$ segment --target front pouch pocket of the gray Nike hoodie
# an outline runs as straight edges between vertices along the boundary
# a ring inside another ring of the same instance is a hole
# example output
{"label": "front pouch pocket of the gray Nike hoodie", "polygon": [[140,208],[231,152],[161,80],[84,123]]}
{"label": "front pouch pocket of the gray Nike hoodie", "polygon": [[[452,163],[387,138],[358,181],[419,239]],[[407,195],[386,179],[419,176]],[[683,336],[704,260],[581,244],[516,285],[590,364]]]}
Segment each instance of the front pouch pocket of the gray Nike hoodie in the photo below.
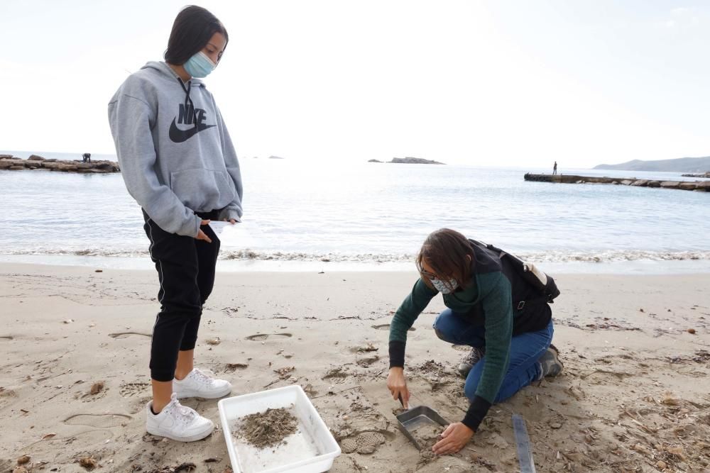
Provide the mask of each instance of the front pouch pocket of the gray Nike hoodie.
{"label": "front pouch pocket of the gray Nike hoodie", "polygon": [[170,173],[170,189],[187,208],[211,211],[222,208],[236,195],[231,177],[224,171],[186,169]]}

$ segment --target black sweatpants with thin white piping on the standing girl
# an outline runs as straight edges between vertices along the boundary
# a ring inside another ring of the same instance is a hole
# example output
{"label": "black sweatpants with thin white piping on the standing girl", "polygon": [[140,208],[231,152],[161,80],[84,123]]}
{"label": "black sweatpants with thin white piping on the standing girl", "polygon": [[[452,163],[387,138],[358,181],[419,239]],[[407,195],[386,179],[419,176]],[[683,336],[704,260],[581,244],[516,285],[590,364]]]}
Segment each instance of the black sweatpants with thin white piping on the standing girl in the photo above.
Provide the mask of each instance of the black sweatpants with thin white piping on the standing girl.
{"label": "black sweatpants with thin white piping on the standing girl", "polygon": [[[197,215],[203,220],[212,220],[217,218],[217,211]],[[143,220],[160,281],[160,312],[153,325],[151,345],[151,378],[172,381],[178,352],[195,348],[202,305],[214,286],[219,239],[208,225],[200,228],[212,243],[168,233],[153,222],[146,211],[143,211]]]}

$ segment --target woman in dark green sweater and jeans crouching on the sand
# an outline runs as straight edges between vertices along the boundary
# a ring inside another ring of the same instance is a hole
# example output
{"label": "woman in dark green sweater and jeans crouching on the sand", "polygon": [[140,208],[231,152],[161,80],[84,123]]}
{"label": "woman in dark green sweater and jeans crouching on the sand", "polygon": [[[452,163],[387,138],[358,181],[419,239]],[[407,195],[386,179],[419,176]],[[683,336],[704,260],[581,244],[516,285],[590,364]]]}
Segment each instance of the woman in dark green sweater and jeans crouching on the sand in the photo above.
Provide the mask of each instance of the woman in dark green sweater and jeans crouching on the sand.
{"label": "woman in dark green sweater and jeans crouching on the sand", "polygon": [[432,447],[443,455],[458,452],[471,440],[492,404],[562,371],[557,349],[550,345],[554,330],[548,305],[559,291],[552,278],[534,267],[530,270],[512,255],[447,228],[427,237],[417,269],[420,278],[391,323],[387,386],[393,399],[408,407],[407,330],[440,292],[447,309],[434,323],[436,335],[471,347],[459,365],[471,404],[466,416],[449,425]]}

